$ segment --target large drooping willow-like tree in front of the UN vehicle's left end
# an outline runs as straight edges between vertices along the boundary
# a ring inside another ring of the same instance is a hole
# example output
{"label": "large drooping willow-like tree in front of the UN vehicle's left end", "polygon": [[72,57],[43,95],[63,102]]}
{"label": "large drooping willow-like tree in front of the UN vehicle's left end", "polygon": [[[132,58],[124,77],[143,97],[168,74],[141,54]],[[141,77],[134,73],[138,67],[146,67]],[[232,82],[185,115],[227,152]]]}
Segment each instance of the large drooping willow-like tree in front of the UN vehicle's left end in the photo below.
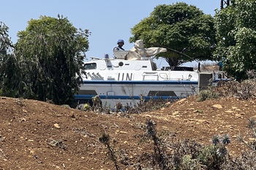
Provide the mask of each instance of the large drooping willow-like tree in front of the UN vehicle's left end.
{"label": "large drooping willow-like tree in front of the UN vehicle's left end", "polygon": [[62,16],[41,16],[28,23],[25,31],[18,32],[15,44],[17,57],[12,63],[18,72],[6,73],[8,77],[19,76],[20,81],[18,85],[9,82],[10,87],[24,98],[72,104],[82,80],[89,31],[78,30]]}

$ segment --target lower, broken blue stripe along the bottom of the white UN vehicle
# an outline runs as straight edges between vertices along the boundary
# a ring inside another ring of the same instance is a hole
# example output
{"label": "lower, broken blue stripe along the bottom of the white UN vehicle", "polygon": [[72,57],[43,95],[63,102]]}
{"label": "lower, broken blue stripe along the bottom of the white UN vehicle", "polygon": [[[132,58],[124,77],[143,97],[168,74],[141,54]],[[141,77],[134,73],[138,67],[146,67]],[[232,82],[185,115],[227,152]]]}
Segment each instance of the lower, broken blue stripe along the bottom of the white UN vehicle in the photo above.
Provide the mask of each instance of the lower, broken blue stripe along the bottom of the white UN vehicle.
{"label": "lower, broken blue stripe along the bottom of the white UN vehicle", "polygon": [[[92,97],[94,97],[95,95],[75,95],[75,99],[77,100],[91,100]],[[135,100],[139,100],[140,96],[106,96],[106,95],[99,95],[99,98],[101,99],[135,99]],[[177,96],[144,96],[144,98],[146,100],[149,99],[178,99],[178,98],[184,98],[184,97],[177,97]]]}

